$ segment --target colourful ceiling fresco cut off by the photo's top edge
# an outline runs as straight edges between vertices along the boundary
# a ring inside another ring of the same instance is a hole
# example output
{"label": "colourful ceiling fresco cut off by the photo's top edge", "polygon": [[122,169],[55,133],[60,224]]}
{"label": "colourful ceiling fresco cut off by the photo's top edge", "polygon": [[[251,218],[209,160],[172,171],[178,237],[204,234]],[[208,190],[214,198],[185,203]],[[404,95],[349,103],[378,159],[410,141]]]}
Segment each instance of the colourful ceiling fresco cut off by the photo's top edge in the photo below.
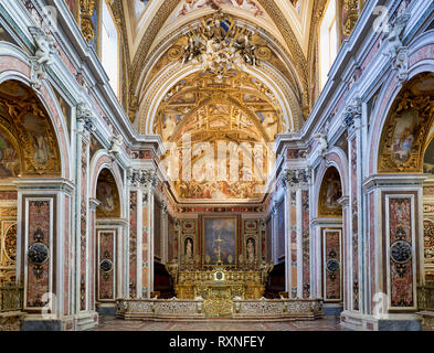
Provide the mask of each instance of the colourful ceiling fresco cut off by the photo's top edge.
{"label": "colourful ceiling fresco cut off by the photo's top edge", "polygon": [[214,10],[222,10],[224,6],[247,10],[255,17],[264,14],[257,2],[252,0],[183,0],[173,19],[186,15],[197,9],[210,7]]}

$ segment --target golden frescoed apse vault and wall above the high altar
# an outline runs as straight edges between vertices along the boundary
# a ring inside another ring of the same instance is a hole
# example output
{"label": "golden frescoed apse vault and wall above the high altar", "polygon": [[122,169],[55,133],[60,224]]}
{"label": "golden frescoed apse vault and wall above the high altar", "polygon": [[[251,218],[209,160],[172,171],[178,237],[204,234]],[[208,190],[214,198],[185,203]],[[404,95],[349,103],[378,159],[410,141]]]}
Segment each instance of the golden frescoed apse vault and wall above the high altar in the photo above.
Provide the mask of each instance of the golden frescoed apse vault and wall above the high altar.
{"label": "golden frescoed apse vault and wall above the high altar", "polygon": [[[284,129],[275,97],[246,74],[224,82],[192,74],[167,93],[154,125],[165,142],[174,143],[165,161],[178,197],[207,201],[260,200],[272,169],[267,142]],[[186,137],[190,146],[182,145]],[[180,158],[190,154],[190,162]]]}

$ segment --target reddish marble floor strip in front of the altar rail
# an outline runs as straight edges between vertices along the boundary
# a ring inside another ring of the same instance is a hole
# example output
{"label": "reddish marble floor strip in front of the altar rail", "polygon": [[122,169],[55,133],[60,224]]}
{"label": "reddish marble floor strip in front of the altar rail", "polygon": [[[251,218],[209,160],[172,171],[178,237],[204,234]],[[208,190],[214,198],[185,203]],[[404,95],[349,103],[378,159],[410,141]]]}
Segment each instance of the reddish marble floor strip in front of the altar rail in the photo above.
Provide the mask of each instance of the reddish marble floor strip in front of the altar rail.
{"label": "reddish marble floor strip in front of the altar rail", "polygon": [[348,331],[339,318],[326,317],[316,321],[290,322],[152,322],[125,321],[99,317],[96,331]]}

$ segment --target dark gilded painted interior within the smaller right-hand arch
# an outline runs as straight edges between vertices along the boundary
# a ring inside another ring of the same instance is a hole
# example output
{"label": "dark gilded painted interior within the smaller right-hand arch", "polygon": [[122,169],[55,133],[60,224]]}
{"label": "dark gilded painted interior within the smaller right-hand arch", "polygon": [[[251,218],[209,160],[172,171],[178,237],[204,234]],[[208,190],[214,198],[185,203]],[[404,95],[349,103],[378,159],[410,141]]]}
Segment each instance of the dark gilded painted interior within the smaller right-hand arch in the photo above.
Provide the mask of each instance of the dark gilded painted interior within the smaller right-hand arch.
{"label": "dark gilded painted interior within the smaller right-hand arch", "polygon": [[342,197],[342,186],[339,172],[331,167],[324,175],[321,189],[319,191],[319,216],[341,216],[342,206],[338,200]]}

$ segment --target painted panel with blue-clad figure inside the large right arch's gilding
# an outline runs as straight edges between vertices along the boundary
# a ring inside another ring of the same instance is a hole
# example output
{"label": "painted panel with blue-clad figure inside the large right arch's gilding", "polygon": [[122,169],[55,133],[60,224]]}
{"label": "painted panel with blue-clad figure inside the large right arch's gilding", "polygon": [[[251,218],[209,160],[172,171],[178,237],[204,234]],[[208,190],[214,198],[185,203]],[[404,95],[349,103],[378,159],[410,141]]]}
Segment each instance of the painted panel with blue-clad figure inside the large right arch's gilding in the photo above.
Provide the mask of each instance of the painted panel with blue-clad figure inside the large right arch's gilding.
{"label": "painted panel with blue-clad figure inside the large right arch's gilding", "polygon": [[396,125],[393,131],[392,156],[398,163],[405,163],[414,145],[414,132],[417,126],[417,111],[406,111],[395,118]]}

